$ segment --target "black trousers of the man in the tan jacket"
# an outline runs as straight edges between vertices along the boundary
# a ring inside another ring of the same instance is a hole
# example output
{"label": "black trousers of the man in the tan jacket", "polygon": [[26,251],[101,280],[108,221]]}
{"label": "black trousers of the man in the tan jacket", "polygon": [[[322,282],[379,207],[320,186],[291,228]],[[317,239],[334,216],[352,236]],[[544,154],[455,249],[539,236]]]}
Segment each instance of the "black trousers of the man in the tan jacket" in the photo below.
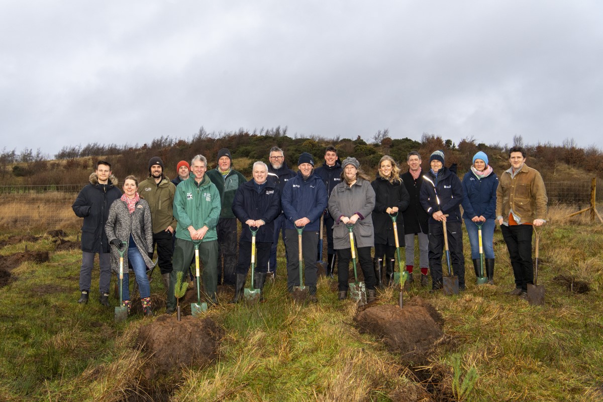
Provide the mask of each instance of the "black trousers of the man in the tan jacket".
{"label": "black trousers of the man in the tan jacket", "polygon": [[532,266],[532,225],[500,225],[502,237],[507,243],[515,287],[528,291],[528,283],[534,284]]}

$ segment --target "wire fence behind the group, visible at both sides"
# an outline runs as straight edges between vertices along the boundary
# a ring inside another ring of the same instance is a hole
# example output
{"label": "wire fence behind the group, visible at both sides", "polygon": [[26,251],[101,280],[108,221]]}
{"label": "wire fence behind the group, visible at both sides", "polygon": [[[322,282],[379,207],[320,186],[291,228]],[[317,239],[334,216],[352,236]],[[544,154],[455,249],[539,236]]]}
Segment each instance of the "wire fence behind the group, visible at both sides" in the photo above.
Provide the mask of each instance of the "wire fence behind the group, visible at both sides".
{"label": "wire fence behind the group, visible at both sides", "polygon": [[[75,216],[71,205],[85,185],[0,186],[0,228],[27,231],[80,228],[82,219]],[[549,205],[569,205],[576,211],[591,205],[592,180],[546,181],[545,186]],[[595,191],[599,205],[601,198],[602,192]]]}

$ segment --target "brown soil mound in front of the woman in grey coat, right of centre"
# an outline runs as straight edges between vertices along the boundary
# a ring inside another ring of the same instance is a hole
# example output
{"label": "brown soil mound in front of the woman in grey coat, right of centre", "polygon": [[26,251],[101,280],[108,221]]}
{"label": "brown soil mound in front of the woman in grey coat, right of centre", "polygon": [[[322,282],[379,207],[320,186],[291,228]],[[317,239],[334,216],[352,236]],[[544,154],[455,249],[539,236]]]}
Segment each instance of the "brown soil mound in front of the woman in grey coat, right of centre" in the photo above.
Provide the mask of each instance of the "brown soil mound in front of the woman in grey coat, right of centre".
{"label": "brown soil mound in front of the woman in grey coat, right of centre", "polygon": [[368,307],[354,321],[361,332],[382,338],[388,350],[402,353],[409,361],[424,356],[444,334],[440,313],[418,296],[403,309],[391,304]]}

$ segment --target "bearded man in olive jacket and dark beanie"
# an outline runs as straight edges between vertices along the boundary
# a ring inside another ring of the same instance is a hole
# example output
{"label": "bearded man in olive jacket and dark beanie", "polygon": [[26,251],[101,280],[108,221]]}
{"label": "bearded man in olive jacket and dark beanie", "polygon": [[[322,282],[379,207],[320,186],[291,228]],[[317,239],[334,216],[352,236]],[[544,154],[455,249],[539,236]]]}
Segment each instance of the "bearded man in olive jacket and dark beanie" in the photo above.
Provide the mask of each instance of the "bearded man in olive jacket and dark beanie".
{"label": "bearded man in olive jacket and dark beanie", "polygon": [[140,198],[144,198],[151,209],[153,220],[153,242],[151,243],[150,258],[157,245],[157,263],[161,270],[165,291],[169,287],[169,274],[172,272],[173,233],[176,230],[176,220],[172,206],[176,186],[163,174],[163,161],[154,156],[149,160],[149,177],[140,183]]}

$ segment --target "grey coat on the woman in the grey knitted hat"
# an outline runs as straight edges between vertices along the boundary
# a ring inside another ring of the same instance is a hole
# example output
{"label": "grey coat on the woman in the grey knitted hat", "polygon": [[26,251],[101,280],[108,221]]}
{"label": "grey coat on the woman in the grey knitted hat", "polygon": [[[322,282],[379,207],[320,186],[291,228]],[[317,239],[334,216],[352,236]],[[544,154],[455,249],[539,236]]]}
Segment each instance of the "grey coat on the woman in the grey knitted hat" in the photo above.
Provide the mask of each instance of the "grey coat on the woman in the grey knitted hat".
{"label": "grey coat on the woman in the grey knitted hat", "polygon": [[357,213],[360,219],[354,225],[356,247],[373,247],[373,217],[371,212],[375,207],[375,192],[367,180],[358,181],[348,186],[345,181],[333,188],[329,198],[329,213],[335,219],[333,225],[333,248],[342,250],[350,248],[350,234],[346,224],[341,222],[341,216],[350,217]]}

